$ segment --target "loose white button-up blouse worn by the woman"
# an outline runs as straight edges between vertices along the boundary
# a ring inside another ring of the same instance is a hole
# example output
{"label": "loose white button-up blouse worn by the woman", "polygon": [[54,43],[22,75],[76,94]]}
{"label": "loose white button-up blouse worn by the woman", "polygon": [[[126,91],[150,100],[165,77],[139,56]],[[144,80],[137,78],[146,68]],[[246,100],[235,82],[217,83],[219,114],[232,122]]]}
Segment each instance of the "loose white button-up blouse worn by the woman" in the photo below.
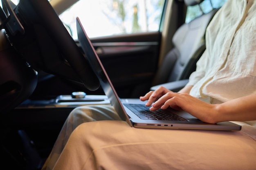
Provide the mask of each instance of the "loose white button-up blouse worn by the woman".
{"label": "loose white button-up blouse worn by the woman", "polygon": [[[187,85],[192,96],[212,104],[256,93],[256,0],[228,0],[216,13]],[[249,125],[243,129],[256,139],[256,121],[236,123]]]}

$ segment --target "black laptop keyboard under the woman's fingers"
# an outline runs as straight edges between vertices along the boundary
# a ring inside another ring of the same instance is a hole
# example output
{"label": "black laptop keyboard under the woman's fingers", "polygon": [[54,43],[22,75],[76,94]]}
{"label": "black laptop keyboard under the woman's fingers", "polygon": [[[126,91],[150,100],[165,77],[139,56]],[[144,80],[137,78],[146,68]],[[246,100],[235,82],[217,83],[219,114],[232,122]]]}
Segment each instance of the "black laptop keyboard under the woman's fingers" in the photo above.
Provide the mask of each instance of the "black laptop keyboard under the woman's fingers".
{"label": "black laptop keyboard under the woman's fingers", "polygon": [[158,109],[157,111],[150,111],[148,107],[141,104],[124,104],[124,105],[141,119],[188,121],[166,110]]}

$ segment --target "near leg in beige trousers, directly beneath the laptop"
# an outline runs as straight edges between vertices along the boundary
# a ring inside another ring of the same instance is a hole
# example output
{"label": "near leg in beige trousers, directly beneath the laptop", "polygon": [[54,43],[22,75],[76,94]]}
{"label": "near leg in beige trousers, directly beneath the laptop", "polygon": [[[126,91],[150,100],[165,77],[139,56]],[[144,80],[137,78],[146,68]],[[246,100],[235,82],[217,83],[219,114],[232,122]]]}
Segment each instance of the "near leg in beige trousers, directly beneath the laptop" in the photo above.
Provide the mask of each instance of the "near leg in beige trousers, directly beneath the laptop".
{"label": "near leg in beige trousers, directly beneath the laptop", "polygon": [[74,130],[56,168],[65,162],[73,169],[253,169],[255,160],[256,141],[240,131],[139,129],[97,121]]}

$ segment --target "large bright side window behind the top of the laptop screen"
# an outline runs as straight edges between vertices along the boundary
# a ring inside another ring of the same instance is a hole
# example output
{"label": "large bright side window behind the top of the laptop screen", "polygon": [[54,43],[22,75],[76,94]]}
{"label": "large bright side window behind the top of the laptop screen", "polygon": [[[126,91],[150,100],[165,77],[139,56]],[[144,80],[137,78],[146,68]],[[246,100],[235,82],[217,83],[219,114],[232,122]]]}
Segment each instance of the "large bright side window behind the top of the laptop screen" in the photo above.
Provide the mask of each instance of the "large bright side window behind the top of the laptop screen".
{"label": "large bright side window behind the top of the laptop screen", "polygon": [[76,17],[89,37],[158,31],[164,0],[79,0],[59,15],[77,39]]}

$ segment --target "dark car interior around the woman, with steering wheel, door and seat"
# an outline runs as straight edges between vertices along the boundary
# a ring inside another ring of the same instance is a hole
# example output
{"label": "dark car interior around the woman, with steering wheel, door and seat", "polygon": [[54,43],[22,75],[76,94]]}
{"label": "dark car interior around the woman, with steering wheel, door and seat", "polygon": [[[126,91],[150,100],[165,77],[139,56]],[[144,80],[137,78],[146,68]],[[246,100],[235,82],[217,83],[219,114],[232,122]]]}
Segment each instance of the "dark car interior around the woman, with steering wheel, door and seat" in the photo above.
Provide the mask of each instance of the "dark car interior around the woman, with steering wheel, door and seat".
{"label": "dark car interior around the woman, with steering wheel, door and seat", "polygon": [[[7,169],[41,169],[75,107],[109,104],[79,41],[59,18],[77,1],[2,0],[0,153]],[[90,38],[120,98],[186,85],[219,9],[211,4],[204,13],[204,1],[217,0],[165,0],[158,31]],[[195,6],[201,15],[185,22]]]}

